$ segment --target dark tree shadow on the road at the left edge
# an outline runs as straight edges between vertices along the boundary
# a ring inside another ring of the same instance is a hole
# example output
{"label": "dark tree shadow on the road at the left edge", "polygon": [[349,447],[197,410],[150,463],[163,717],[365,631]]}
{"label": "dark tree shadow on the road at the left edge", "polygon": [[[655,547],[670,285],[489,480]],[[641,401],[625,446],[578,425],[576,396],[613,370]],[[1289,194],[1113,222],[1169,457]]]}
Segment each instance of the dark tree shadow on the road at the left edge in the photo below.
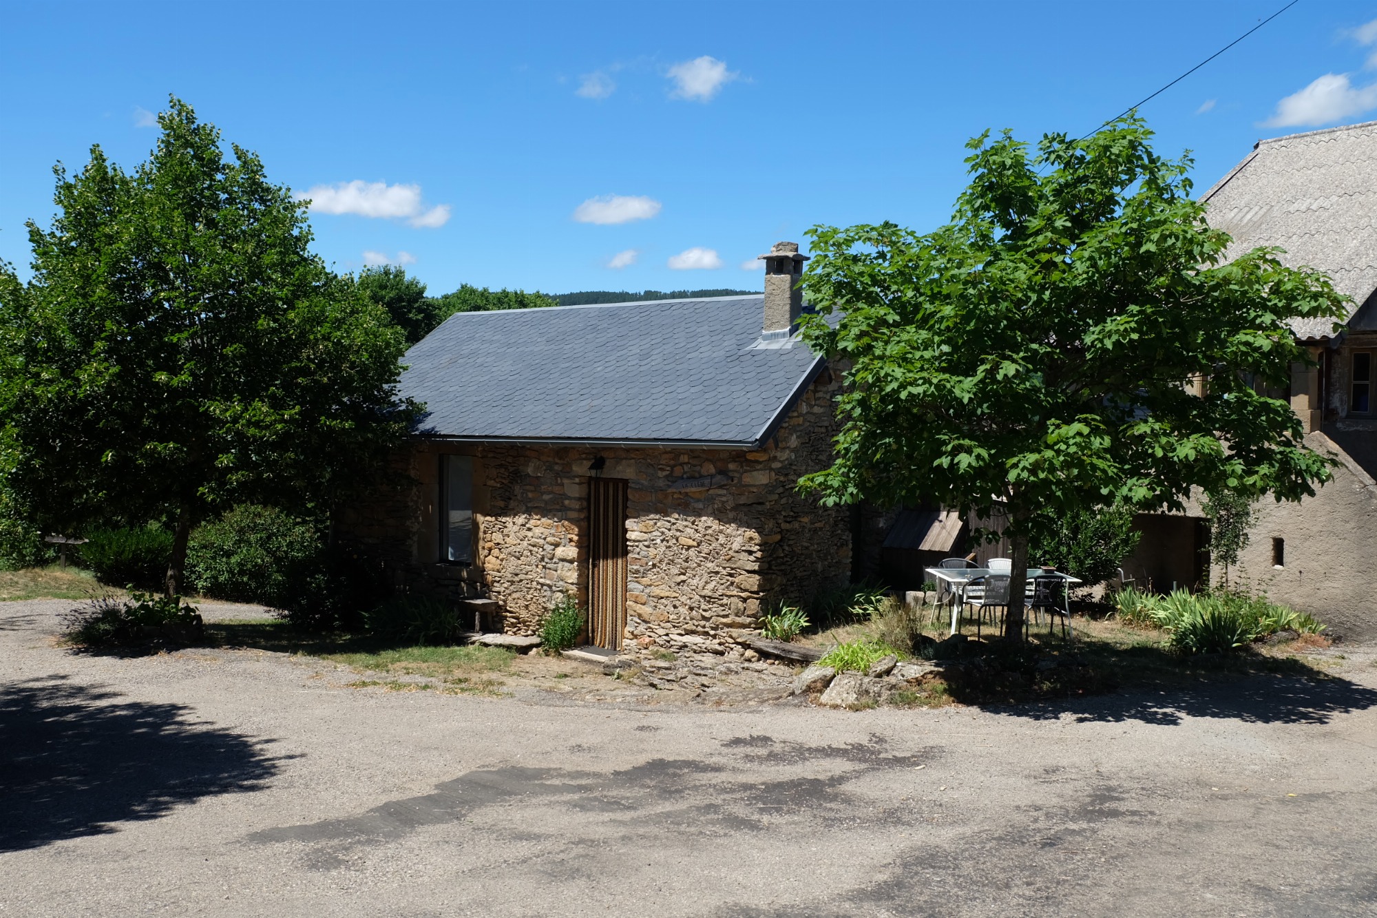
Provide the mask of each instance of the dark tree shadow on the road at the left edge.
{"label": "dark tree shadow on the road at the left edge", "polygon": [[264,740],[197,722],[185,704],[121,699],[65,677],[0,686],[0,852],[260,790],[280,768]]}

